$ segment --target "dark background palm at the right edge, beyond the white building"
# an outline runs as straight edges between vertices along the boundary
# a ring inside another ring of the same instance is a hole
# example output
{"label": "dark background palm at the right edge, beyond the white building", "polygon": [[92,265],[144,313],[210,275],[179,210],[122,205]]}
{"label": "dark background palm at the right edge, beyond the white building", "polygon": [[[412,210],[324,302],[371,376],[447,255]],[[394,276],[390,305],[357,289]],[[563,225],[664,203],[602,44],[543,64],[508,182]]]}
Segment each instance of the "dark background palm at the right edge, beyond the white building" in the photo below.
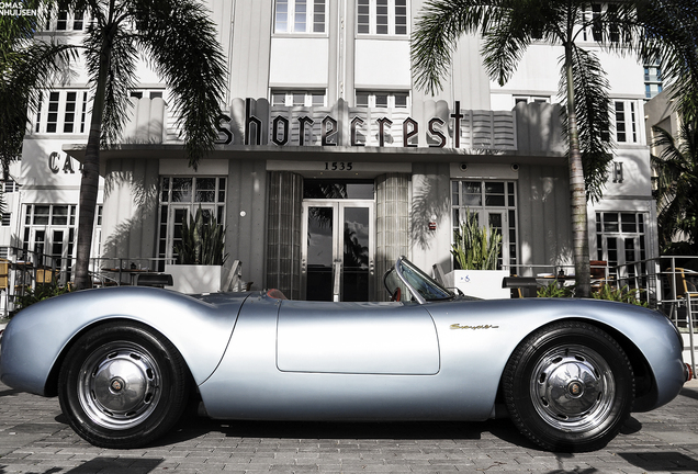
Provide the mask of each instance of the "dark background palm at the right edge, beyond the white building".
{"label": "dark background palm at the right edge, beyond the white building", "polygon": [[[652,156],[657,170],[657,223],[663,252],[696,253],[698,245],[698,121],[683,114],[678,136],[654,127],[653,145],[663,148]],[[680,238],[680,241],[675,241]],[[693,251],[691,251],[693,250]]]}

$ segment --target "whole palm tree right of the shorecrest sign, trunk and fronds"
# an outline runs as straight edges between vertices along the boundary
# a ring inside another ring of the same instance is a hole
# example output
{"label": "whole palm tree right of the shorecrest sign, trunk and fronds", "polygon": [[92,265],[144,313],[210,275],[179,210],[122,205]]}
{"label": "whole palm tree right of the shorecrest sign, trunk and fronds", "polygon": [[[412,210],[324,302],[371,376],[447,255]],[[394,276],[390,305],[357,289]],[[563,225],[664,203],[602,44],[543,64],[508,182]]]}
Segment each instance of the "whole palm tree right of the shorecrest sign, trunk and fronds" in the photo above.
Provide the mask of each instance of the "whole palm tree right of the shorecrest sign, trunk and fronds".
{"label": "whole palm tree right of the shorecrest sign, trunk and fronds", "polygon": [[[464,34],[482,36],[485,68],[499,84],[516,71],[533,41],[564,49],[560,95],[570,144],[576,286],[583,297],[590,293],[586,203],[600,199],[611,144],[605,137],[610,116],[608,83],[594,50],[582,48],[577,40],[592,32],[605,49],[675,58],[688,50],[687,40],[672,34],[673,43],[665,43],[662,34],[669,35],[668,25],[680,29],[686,18],[695,19],[696,5],[689,0],[664,8],[665,3],[672,2],[608,2],[605,12],[589,14],[588,1],[582,0],[430,0],[413,34],[415,81],[432,94],[441,89],[441,77],[448,74],[452,52]],[[679,50],[679,46],[686,49]]]}

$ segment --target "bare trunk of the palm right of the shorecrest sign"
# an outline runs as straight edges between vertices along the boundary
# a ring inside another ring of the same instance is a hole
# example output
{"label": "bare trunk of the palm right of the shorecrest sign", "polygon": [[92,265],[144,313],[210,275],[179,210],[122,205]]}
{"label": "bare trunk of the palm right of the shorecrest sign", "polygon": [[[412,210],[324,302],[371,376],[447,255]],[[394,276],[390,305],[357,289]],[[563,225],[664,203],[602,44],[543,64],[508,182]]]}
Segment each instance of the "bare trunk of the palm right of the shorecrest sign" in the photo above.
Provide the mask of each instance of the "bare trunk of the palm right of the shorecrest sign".
{"label": "bare trunk of the palm right of the shorecrest sign", "polygon": [[567,86],[567,133],[570,135],[570,189],[572,204],[572,242],[574,248],[574,272],[576,295],[589,297],[592,293],[589,268],[589,239],[586,215],[586,187],[584,167],[579,151],[579,132],[574,102],[574,78],[572,76],[572,47],[565,45],[565,74]]}

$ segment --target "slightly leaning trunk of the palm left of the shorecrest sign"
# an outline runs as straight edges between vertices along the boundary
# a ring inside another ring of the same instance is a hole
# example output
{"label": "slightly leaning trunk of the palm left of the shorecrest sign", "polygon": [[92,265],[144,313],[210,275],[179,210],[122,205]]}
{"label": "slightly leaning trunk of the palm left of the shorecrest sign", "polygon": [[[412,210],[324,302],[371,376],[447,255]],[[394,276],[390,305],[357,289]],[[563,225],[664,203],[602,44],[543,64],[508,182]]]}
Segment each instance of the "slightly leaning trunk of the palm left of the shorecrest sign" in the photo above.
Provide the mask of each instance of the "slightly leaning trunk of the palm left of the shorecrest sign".
{"label": "slightly leaning trunk of the palm left of the shorecrest sign", "polygon": [[90,252],[92,249],[92,234],[94,225],[94,212],[97,210],[97,195],[100,182],[100,142],[102,135],[102,115],[104,111],[104,91],[106,88],[106,74],[110,66],[109,47],[102,48],[100,69],[98,74],[94,100],[92,103],[92,119],[90,121],[90,134],[82,160],[82,179],[80,181],[79,221],[78,221],[78,247],[75,271],[75,286],[77,290],[92,287],[90,279]]}

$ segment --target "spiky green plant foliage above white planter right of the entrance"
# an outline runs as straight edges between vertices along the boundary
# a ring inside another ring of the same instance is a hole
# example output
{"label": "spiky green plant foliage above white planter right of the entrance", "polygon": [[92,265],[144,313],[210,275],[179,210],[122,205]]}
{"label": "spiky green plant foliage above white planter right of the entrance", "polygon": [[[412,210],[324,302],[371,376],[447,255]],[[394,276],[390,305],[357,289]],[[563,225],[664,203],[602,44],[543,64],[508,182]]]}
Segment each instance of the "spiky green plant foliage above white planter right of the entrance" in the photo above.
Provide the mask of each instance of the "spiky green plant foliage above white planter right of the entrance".
{"label": "spiky green plant foliage above white planter right of the entrance", "polygon": [[502,235],[492,226],[481,227],[477,214],[468,212],[453,234],[451,255],[461,270],[496,270]]}

